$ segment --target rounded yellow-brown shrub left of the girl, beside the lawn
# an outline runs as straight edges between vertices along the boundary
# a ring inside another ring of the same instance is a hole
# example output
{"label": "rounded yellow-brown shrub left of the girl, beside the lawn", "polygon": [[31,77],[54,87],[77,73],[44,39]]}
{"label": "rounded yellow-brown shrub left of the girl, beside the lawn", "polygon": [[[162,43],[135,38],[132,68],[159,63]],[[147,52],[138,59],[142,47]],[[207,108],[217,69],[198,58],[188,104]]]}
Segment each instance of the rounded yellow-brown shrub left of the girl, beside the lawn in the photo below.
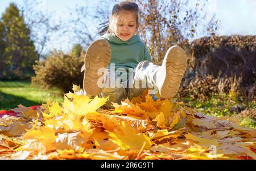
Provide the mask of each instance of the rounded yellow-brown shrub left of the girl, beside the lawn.
{"label": "rounded yellow-brown shrub left of the girl, beside the lawn", "polygon": [[36,76],[32,78],[32,84],[68,92],[73,83],[82,86],[83,72],[80,69],[83,64],[84,52],[80,57],[74,53],[53,52],[46,61],[37,61],[34,65]]}

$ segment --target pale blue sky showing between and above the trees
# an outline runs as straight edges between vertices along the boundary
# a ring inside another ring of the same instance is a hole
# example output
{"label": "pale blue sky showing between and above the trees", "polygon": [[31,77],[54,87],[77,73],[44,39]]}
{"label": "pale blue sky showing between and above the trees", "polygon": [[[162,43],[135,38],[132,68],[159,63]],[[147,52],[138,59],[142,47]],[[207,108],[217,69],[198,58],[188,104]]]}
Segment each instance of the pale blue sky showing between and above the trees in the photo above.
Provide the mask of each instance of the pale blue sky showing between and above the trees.
{"label": "pale blue sky showing between and above the trees", "polygon": [[[33,0],[28,0],[33,1]],[[55,12],[55,18],[69,18],[69,9],[76,5],[86,4],[94,6],[100,0],[42,0],[42,9]],[[113,1],[113,0],[110,0]],[[195,0],[190,0],[193,2]],[[0,0],[0,14],[10,2],[22,3],[22,0]],[[209,15],[216,13],[221,20],[222,28],[218,35],[256,35],[256,0],[209,0],[205,10]],[[204,36],[204,35],[201,35]],[[67,51],[72,45],[63,36],[61,39],[53,37],[48,49],[56,48]]]}

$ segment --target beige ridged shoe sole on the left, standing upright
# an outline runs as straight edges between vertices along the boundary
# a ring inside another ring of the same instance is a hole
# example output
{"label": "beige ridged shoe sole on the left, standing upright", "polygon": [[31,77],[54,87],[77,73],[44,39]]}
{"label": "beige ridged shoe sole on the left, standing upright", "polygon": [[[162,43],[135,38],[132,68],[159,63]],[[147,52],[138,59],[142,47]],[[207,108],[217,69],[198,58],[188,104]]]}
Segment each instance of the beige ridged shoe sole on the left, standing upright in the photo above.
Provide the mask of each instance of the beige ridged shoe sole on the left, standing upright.
{"label": "beige ridged shoe sole on the left, standing upright", "polygon": [[97,96],[102,88],[98,86],[98,79],[104,75],[98,75],[98,69],[106,69],[111,60],[111,48],[109,42],[105,39],[94,41],[87,49],[84,62],[84,90],[91,96]]}

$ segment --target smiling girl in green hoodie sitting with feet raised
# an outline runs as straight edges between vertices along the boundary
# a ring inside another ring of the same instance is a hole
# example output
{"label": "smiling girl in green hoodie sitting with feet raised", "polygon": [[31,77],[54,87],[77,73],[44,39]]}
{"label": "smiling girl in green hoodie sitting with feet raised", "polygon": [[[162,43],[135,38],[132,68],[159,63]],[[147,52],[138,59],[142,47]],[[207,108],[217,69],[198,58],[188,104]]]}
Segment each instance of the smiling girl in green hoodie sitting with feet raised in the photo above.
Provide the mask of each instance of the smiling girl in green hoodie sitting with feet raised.
{"label": "smiling girl in green hoodie sitting with feet raised", "polygon": [[86,95],[109,97],[105,106],[141,95],[146,88],[164,99],[177,94],[187,69],[187,57],[179,46],[168,49],[162,66],[151,62],[140,37],[139,8],[134,2],[115,4],[107,25],[86,51],[84,90]]}

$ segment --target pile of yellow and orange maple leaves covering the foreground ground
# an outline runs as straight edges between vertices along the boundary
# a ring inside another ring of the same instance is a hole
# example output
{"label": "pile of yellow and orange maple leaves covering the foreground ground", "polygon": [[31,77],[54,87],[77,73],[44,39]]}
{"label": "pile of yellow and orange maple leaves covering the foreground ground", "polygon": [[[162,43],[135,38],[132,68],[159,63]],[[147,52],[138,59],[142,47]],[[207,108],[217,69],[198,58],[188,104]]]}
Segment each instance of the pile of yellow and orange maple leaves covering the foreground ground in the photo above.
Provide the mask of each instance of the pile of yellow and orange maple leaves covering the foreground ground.
{"label": "pile of yellow and orange maple leaves covering the foreground ground", "polygon": [[144,92],[115,109],[106,98],[67,93],[63,105],[0,118],[0,159],[256,159],[256,130]]}

